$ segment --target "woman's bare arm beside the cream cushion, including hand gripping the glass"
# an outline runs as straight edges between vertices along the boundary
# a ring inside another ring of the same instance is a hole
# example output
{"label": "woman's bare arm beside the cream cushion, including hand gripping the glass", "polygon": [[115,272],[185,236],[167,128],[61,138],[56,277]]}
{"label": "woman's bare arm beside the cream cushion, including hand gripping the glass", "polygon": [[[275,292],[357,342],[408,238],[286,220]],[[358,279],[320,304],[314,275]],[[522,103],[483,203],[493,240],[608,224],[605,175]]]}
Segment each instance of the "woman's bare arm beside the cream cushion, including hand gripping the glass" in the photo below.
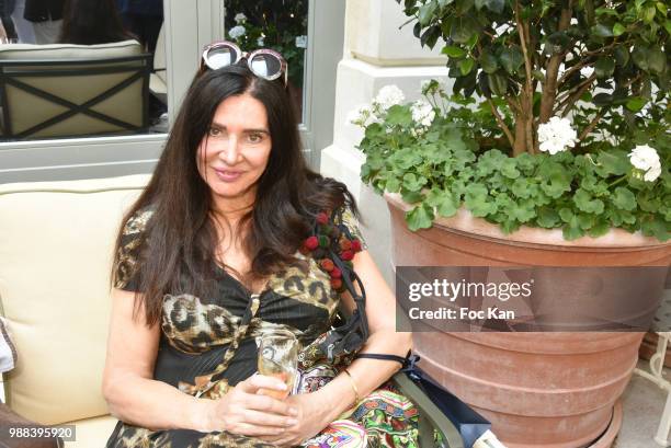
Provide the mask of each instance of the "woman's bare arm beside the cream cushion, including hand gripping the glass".
{"label": "woman's bare arm beside the cream cushion, including hand gripping the glass", "polygon": [[275,379],[254,376],[220,400],[196,399],[153,380],[160,326],[145,324],[144,309],[133,318],[135,294],[115,289],[103,394],[115,417],[151,429],[229,430],[244,435],[277,435],[295,422],[287,403],[257,395],[259,388],[282,390]]}

